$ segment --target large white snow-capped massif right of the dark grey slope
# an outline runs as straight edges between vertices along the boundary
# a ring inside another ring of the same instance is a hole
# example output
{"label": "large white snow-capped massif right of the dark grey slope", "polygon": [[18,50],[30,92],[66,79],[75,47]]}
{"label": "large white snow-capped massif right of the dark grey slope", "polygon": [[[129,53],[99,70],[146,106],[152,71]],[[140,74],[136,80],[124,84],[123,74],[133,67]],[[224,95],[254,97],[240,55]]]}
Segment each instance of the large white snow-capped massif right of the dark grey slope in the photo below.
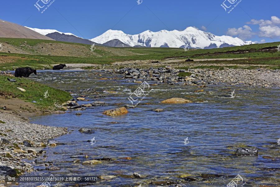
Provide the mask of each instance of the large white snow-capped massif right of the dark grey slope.
{"label": "large white snow-capped massif right of the dark grey slope", "polygon": [[183,48],[187,46],[194,49],[212,49],[229,46],[241,46],[254,44],[252,41],[243,41],[239,38],[231,36],[216,36],[209,32],[197,30],[188,27],[183,31],[178,30],[161,30],[152,32],[144,31],[138,35],[128,35],[120,30],[108,30],[104,34],[91,39],[91,41],[104,44],[111,40],[119,40],[128,46],[144,46],[144,47],[172,47]]}

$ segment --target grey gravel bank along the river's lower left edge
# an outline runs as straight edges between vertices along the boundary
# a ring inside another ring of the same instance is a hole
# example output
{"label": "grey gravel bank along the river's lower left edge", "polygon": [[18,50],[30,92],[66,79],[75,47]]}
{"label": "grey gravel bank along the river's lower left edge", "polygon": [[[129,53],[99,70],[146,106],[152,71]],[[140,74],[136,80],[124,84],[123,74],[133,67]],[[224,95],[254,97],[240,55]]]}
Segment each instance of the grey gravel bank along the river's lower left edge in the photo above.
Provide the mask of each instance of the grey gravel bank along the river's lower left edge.
{"label": "grey gravel bank along the river's lower left edge", "polygon": [[[50,127],[39,124],[30,124],[28,122],[15,121],[13,114],[0,113],[0,120],[5,122],[0,123],[0,166],[9,166],[12,169],[17,169],[18,174],[26,174],[35,171],[32,166],[34,163],[26,164],[21,161],[24,158],[37,158],[42,153],[24,151],[24,141],[29,142],[32,148],[46,147],[47,140],[67,134],[67,128]],[[4,139],[3,139],[4,138]],[[8,141],[8,142],[7,142]],[[43,149],[44,150],[44,149]],[[38,151],[38,150],[37,150]],[[38,151],[39,152],[39,151]],[[41,152],[41,151],[40,151]],[[7,176],[0,176],[0,181],[4,182]]]}

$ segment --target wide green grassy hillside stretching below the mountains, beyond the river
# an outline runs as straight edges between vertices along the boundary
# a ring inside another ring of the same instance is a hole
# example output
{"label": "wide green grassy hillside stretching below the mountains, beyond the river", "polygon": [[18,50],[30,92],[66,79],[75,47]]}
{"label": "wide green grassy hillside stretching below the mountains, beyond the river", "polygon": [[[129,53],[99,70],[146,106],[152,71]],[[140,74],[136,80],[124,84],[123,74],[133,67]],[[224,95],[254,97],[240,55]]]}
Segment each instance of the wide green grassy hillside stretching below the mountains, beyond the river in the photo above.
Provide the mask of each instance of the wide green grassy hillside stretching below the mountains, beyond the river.
{"label": "wide green grassy hillside stretching below the mountains, beyond the river", "polygon": [[[69,42],[34,40],[34,39],[11,39],[1,38],[0,42],[6,42],[13,46],[20,47],[23,43],[29,46],[38,44],[54,43],[57,45],[68,44],[69,48],[78,51],[74,46],[84,46],[86,51],[79,51],[77,57],[64,52],[63,50],[53,52],[51,55],[31,55],[0,52],[0,70],[7,70],[18,67],[29,66],[31,68],[52,68],[52,64],[57,63],[91,63],[110,64],[117,61],[147,60],[162,61],[174,58],[184,62],[186,58],[191,59],[213,59],[211,61],[201,61],[200,63],[235,63],[235,64],[268,64],[280,65],[280,52],[276,49],[280,42],[266,44],[250,44],[244,46],[225,47],[221,49],[195,49],[184,51],[182,48],[116,48],[100,47],[91,53],[90,45],[76,44]],[[26,41],[26,42],[25,42]],[[48,46],[45,45],[45,46]],[[73,47],[71,47],[73,46]],[[22,48],[24,46],[21,46]],[[51,48],[52,46],[48,46]],[[28,49],[26,49],[28,50]],[[55,56],[56,54],[60,54]],[[93,55],[94,54],[94,55]],[[62,56],[61,56],[62,55]],[[67,56],[69,55],[69,56]],[[238,60],[217,61],[215,58],[247,58]],[[251,58],[251,59],[249,59]],[[5,60],[6,59],[6,60]],[[5,67],[5,68],[4,68]]]}

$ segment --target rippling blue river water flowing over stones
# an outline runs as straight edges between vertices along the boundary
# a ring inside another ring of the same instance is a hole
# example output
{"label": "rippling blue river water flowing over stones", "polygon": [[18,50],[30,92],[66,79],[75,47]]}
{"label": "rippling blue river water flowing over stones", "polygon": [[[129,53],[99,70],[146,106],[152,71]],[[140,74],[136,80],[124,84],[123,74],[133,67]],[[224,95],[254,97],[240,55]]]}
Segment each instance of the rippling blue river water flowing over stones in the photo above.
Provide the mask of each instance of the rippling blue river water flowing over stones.
{"label": "rippling blue river water flowing over stones", "polygon": [[[99,80],[99,74],[108,80]],[[46,161],[53,161],[61,170],[38,171],[30,175],[99,177],[96,183],[89,186],[130,187],[142,184],[145,187],[156,186],[155,183],[150,184],[153,181],[174,181],[181,186],[216,187],[226,186],[239,174],[243,182],[239,181],[238,186],[244,182],[244,186],[279,186],[279,159],[272,161],[263,158],[280,157],[280,146],[277,145],[280,138],[279,89],[228,85],[206,88],[152,86],[154,82],[148,82],[151,86],[149,90],[153,90],[135,109],[128,109],[127,115],[103,115],[105,110],[131,105],[127,98],[140,84],[124,83],[121,77],[104,71],[40,71],[38,76],[31,77],[48,86],[69,91],[74,98],[83,95],[83,90],[93,88],[100,94],[87,95],[85,98],[89,101],[78,103],[88,104],[96,99],[108,105],[78,111],[82,113],[80,116],[75,115],[76,110],[68,110],[66,114],[32,117],[31,123],[67,127],[71,133],[55,138],[65,145],[45,148],[48,155]],[[205,92],[194,92],[200,89]],[[231,91],[225,89],[235,90],[236,97],[230,97]],[[212,94],[207,94],[209,91]],[[96,98],[96,95],[106,97]],[[159,103],[172,97],[189,99],[193,103]],[[151,111],[155,108],[165,111]],[[94,133],[78,132],[82,127],[93,128]],[[94,137],[96,143],[91,145],[88,140]],[[187,141],[185,145],[184,139],[187,137],[189,143]],[[236,149],[242,147],[258,148],[259,155],[234,156]],[[77,155],[81,162],[65,162],[77,159],[70,158],[73,155]],[[85,155],[89,158],[85,158]],[[115,161],[82,165],[83,161],[103,157]],[[132,160],[121,159],[124,157],[131,157]],[[39,164],[34,166],[45,167]],[[129,178],[128,175],[132,176],[134,172],[142,175],[142,178]],[[188,181],[186,178],[199,177],[203,173],[224,176],[198,178],[198,181]],[[36,185],[21,183],[19,186]]]}

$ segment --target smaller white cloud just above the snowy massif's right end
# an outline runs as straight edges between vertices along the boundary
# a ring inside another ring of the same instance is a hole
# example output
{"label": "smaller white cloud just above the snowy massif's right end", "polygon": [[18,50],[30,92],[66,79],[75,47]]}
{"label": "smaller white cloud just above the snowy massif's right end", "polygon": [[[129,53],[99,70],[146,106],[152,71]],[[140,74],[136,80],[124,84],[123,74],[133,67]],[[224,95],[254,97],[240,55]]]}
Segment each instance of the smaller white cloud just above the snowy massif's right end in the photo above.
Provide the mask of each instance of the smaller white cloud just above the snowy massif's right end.
{"label": "smaller white cloud just above the snowy massif's right end", "polygon": [[237,36],[238,38],[240,38],[241,40],[246,40],[249,38],[252,38],[254,35],[256,35],[256,33],[252,32],[252,29],[245,25],[243,26],[244,29],[242,29],[242,27],[236,29],[236,28],[228,28],[226,34],[230,35],[231,37],[233,36]]}

